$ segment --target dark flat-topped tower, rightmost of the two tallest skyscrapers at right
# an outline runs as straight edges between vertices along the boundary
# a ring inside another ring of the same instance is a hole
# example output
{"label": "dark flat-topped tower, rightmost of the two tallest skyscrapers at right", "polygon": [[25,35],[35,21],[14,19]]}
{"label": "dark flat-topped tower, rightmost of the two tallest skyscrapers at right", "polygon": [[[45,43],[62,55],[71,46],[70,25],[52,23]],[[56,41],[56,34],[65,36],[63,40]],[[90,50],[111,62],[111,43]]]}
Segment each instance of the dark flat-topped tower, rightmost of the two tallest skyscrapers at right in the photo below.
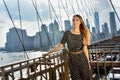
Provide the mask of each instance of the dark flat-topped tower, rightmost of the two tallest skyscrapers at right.
{"label": "dark flat-topped tower, rightmost of the two tallest skyscrapers at right", "polygon": [[116,21],[115,21],[114,12],[110,12],[110,29],[111,29],[111,35],[116,36],[117,35],[117,29],[116,29]]}

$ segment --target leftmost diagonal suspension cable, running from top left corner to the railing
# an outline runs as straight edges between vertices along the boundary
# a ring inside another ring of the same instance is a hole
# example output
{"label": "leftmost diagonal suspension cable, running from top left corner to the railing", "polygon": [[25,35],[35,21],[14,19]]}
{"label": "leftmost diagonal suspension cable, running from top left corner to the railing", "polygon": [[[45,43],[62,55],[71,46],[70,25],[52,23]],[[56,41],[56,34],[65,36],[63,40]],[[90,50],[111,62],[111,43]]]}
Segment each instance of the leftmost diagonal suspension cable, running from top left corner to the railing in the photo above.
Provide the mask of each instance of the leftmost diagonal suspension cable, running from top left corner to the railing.
{"label": "leftmost diagonal suspension cable, running from top left corner to the railing", "polygon": [[24,52],[25,52],[25,54],[26,54],[26,56],[27,56],[27,59],[29,59],[29,57],[28,57],[28,55],[27,55],[27,52],[26,52],[26,50],[25,50],[25,46],[24,46],[24,44],[23,44],[23,42],[22,42],[22,40],[21,40],[21,38],[20,38],[20,35],[19,35],[19,33],[18,33],[18,31],[17,31],[17,29],[16,29],[16,27],[15,27],[14,21],[13,21],[13,19],[12,19],[12,17],[11,17],[11,14],[10,14],[10,12],[9,12],[9,9],[8,9],[8,7],[7,7],[7,4],[6,4],[6,2],[5,2],[4,0],[3,0],[3,3],[4,3],[5,8],[6,8],[7,12],[8,12],[8,15],[9,15],[9,17],[10,17],[10,20],[11,20],[11,22],[12,22],[14,28],[15,28],[15,31],[16,31],[16,33],[17,33],[17,35],[18,35],[18,38],[19,38],[19,40],[20,40],[20,42],[21,42],[21,45],[22,45],[22,47],[23,47],[23,50],[24,50]]}

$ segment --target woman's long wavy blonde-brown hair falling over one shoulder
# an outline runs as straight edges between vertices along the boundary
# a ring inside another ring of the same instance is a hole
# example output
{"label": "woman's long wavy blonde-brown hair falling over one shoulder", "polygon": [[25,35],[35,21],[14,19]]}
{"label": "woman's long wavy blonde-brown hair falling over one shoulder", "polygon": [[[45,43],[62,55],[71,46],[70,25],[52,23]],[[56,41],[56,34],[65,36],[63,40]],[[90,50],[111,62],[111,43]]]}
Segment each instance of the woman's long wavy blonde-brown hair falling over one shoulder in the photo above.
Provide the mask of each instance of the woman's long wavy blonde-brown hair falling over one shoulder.
{"label": "woman's long wavy blonde-brown hair falling over one shoulder", "polygon": [[90,32],[89,32],[88,28],[86,27],[82,17],[79,14],[76,14],[73,17],[78,17],[80,19],[81,24],[79,26],[79,30],[80,30],[81,35],[83,36],[83,44],[86,46],[89,45],[91,35],[90,35]]}

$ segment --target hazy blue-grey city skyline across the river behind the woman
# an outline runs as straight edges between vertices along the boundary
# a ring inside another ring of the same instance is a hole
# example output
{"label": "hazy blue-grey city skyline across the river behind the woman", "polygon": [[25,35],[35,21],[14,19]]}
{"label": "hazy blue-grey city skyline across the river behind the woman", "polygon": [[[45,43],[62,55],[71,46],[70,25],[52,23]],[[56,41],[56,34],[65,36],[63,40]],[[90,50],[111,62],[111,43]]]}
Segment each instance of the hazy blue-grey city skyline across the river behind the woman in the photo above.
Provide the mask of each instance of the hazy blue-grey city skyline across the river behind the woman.
{"label": "hazy blue-grey city skyline across the river behind the woman", "polygon": [[[100,32],[99,25],[92,27],[91,31],[91,43],[94,43],[99,40],[108,39],[113,36],[120,36],[120,29],[116,29],[116,19],[114,12],[110,12],[110,31],[108,27],[108,23],[104,22],[102,24],[102,32]],[[99,13],[95,12],[94,18],[95,24],[99,23]],[[65,30],[68,31],[71,29],[71,24],[69,20],[64,21]],[[90,24],[88,19],[86,19],[86,25],[88,29],[90,29]],[[40,50],[40,51],[48,51],[49,49],[56,46],[60,43],[63,33],[63,30],[60,31],[58,22],[54,20],[54,23],[50,23],[49,26],[45,24],[41,25],[41,31],[36,32],[36,35],[30,37],[26,34],[26,30],[11,28],[7,33],[5,50],[8,52],[14,51],[23,51],[23,50]],[[110,33],[111,32],[111,33]],[[16,43],[16,44],[14,44]]]}

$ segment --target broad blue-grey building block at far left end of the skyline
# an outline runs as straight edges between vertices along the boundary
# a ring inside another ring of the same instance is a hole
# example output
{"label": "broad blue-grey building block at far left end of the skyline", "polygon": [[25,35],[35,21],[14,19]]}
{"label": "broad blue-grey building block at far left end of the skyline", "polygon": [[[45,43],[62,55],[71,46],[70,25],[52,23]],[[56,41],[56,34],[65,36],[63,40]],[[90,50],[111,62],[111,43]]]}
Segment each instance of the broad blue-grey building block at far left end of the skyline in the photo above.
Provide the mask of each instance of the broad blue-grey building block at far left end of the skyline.
{"label": "broad blue-grey building block at far left end of the skyline", "polygon": [[5,44],[6,50],[10,52],[33,50],[33,39],[29,37],[25,30],[18,28],[11,28],[6,35],[7,42]]}

